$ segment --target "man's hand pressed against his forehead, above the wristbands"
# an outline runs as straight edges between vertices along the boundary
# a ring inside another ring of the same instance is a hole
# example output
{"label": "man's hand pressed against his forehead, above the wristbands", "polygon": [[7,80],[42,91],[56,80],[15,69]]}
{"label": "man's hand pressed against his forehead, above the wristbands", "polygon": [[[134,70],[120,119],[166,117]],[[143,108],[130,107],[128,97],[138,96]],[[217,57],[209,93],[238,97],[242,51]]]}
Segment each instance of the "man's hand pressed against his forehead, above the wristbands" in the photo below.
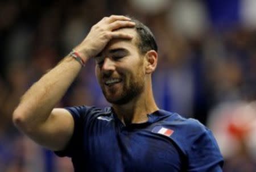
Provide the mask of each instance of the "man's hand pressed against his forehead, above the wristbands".
{"label": "man's hand pressed against his forehead, above the wristbands", "polygon": [[[82,43],[75,48],[75,51],[82,54],[85,58],[95,57],[102,52],[109,41],[113,39],[133,39],[134,22],[126,16],[112,15],[105,17],[96,23],[82,41]],[[123,28],[123,29],[121,29]],[[125,29],[126,28],[126,29]]]}

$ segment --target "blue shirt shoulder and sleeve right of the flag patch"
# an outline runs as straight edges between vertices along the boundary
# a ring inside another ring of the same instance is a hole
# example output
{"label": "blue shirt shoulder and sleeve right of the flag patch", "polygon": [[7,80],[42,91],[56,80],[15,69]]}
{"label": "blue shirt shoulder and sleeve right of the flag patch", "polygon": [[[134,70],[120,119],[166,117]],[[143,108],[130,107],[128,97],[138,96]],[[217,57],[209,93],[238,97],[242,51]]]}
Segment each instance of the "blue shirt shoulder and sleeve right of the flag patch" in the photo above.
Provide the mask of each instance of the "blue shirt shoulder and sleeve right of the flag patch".
{"label": "blue shirt shoulder and sleeve right of the flag patch", "polygon": [[188,158],[188,171],[220,171],[223,158],[212,132],[196,119],[167,111],[163,113],[169,114],[164,124],[174,131],[170,136],[172,141]]}

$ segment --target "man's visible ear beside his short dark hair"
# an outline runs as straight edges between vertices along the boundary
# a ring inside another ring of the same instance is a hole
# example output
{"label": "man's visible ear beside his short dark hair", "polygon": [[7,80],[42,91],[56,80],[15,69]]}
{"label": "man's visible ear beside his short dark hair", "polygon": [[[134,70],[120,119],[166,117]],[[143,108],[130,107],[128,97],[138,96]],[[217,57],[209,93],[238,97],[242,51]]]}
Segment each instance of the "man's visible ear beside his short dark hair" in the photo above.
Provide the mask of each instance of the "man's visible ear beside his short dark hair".
{"label": "man's visible ear beside his short dark hair", "polygon": [[146,74],[154,72],[156,65],[158,64],[158,53],[154,50],[150,50],[146,53]]}

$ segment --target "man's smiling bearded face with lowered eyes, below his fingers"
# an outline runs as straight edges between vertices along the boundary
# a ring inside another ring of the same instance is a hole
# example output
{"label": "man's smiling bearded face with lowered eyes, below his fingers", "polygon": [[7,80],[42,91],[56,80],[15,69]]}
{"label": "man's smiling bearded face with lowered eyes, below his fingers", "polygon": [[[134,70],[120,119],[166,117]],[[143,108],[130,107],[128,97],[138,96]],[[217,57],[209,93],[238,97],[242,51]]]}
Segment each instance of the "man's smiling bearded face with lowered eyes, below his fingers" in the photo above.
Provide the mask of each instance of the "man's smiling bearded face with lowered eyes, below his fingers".
{"label": "man's smiling bearded face with lowered eyes, below his fingers", "polygon": [[132,28],[122,31],[134,35],[132,40],[115,39],[96,57],[96,75],[106,100],[126,104],[144,90],[143,56],[139,53],[137,33]]}

